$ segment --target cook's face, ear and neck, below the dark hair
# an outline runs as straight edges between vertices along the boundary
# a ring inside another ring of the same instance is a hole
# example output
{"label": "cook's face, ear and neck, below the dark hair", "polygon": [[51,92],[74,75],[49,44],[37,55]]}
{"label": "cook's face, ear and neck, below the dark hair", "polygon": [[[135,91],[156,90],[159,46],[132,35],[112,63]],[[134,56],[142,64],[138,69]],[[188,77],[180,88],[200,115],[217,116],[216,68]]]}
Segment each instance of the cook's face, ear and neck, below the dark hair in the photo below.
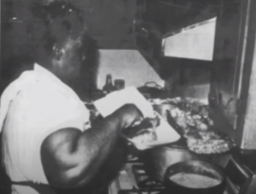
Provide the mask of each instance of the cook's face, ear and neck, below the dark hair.
{"label": "cook's face, ear and neck, below the dark hair", "polygon": [[60,47],[53,46],[53,53],[50,70],[63,82],[76,91],[95,88],[98,49],[90,36],[84,33],[76,39],[67,37]]}

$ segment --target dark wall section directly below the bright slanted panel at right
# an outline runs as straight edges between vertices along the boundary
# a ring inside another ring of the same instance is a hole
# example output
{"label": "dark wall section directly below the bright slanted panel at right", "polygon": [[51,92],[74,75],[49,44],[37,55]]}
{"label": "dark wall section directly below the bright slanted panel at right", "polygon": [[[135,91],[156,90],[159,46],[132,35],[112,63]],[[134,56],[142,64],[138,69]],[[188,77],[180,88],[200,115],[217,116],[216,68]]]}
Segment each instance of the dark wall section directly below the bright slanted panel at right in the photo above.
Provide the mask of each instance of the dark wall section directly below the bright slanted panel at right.
{"label": "dark wall section directly below the bright slanted panel at right", "polygon": [[211,82],[211,62],[164,58],[161,60],[162,78],[169,97],[191,97],[208,103]]}

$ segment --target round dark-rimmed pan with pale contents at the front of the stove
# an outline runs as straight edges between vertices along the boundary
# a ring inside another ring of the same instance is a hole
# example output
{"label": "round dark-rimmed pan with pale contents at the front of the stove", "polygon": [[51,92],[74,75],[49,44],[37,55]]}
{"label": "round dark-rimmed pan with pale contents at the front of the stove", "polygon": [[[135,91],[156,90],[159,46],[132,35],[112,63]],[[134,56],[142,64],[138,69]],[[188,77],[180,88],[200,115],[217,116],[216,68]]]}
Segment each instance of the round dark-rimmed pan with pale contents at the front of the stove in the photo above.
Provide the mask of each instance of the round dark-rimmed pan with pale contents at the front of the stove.
{"label": "round dark-rimmed pan with pale contents at the front of the stove", "polygon": [[167,193],[222,194],[226,176],[222,168],[202,161],[171,165],[164,176]]}

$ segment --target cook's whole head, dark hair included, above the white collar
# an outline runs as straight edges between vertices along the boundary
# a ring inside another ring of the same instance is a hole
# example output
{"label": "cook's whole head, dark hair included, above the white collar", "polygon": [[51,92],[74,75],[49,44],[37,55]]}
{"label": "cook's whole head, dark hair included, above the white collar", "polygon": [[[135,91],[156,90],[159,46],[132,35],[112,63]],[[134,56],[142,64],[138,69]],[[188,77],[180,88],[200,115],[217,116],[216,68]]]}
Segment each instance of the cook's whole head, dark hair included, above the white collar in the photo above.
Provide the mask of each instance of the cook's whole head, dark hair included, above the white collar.
{"label": "cook's whole head, dark hair included, above the white collar", "polygon": [[47,6],[39,4],[35,12],[45,25],[36,61],[78,93],[93,90],[98,49],[87,33],[81,11],[66,1],[58,1]]}

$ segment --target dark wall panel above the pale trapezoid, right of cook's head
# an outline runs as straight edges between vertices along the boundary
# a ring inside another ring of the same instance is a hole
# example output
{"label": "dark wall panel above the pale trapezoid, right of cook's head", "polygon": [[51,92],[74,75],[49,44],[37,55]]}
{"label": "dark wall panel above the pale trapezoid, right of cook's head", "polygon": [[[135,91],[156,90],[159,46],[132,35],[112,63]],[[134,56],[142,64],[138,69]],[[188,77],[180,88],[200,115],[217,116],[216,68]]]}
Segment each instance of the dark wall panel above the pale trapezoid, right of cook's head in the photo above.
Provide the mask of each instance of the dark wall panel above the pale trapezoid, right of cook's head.
{"label": "dark wall panel above the pale trapezoid, right of cook's head", "polygon": [[[84,4],[86,1],[78,1]],[[133,21],[136,0],[87,0],[83,6],[88,18],[86,24],[90,35],[98,41],[100,48],[133,48]]]}

